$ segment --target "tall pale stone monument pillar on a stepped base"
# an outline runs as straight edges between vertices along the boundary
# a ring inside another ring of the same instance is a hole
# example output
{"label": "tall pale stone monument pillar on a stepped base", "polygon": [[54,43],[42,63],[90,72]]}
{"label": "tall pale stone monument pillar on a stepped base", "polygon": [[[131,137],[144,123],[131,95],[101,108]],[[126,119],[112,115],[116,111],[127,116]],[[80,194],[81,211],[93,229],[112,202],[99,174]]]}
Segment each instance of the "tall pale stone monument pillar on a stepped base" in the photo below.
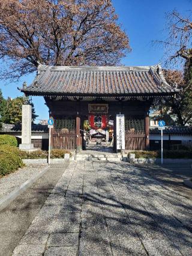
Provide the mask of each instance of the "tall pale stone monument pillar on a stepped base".
{"label": "tall pale stone monument pillar on a stepped base", "polygon": [[22,144],[21,150],[32,150],[34,144],[31,144],[31,105],[22,105]]}

